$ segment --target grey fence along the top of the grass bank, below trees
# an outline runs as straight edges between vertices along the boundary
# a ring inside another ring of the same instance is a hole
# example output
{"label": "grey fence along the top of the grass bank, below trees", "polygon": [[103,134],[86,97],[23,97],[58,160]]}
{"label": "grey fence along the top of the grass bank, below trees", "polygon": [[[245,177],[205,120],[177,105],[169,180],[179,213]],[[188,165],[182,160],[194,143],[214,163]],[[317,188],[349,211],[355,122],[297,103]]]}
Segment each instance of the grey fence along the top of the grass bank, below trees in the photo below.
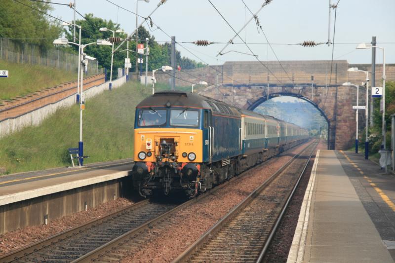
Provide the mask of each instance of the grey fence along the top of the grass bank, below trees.
{"label": "grey fence along the top of the grass bank, below trees", "polygon": [[[77,72],[78,55],[59,49],[49,49],[43,52],[40,47],[30,43],[19,43],[7,38],[0,38],[0,59],[20,64],[36,64],[55,67],[62,70]],[[88,75],[102,73],[98,61],[89,61]]]}

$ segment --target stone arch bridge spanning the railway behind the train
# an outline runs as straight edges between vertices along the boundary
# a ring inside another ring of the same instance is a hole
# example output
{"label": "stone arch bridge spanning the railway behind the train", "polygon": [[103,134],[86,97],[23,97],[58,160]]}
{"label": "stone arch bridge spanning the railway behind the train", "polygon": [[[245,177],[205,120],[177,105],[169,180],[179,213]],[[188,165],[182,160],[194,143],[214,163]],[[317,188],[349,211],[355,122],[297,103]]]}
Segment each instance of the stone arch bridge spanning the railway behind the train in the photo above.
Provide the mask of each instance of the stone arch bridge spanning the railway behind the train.
{"label": "stone arch bridge spanning the railway behind the train", "polygon": [[[313,104],[328,122],[328,149],[342,150],[353,145],[356,119],[352,106],[356,105],[356,88],[343,86],[342,83],[361,84],[365,81],[365,74],[348,72],[347,69],[358,67],[370,71],[370,65],[351,65],[346,60],[335,60],[332,76],[331,61],[281,61],[282,67],[278,62],[269,61],[265,65],[271,73],[259,62],[226,62],[222,66],[181,71],[176,74],[176,85],[187,86],[190,82],[207,81],[209,86],[200,90],[199,94],[248,110],[254,110],[267,99],[278,96],[303,99]],[[386,71],[387,80],[395,80],[395,65],[387,65]],[[378,86],[382,86],[381,76],[382,67],[377,65]],[[157,78],[159,82],[167,82],[169,75],[162,74]],[[365,105],[365,97],[366,90],[361,86],[359,105]],[[363,110],[359,116],[362,129],[365,123]]]}

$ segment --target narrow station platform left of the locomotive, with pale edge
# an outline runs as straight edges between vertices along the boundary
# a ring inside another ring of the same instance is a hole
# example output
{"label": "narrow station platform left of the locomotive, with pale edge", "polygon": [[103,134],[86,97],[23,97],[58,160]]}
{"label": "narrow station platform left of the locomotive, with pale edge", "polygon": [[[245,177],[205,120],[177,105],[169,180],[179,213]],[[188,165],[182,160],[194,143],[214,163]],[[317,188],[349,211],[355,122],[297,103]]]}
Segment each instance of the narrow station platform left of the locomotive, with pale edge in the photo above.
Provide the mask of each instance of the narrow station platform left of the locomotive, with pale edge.
{"label": "narrow station platform left of the locomotive, with pale edge", "polygon": [[133,161],[87,164],[0,176],[0,206],[130,175]]}

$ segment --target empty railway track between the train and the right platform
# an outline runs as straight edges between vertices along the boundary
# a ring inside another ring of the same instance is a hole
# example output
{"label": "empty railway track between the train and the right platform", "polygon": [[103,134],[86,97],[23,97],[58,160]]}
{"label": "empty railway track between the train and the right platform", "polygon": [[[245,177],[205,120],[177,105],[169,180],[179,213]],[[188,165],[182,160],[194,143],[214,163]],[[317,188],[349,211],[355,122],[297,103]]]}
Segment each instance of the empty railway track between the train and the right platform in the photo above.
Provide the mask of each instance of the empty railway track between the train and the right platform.
{"label": "empty railway track between the train and the right platform", "polygon": [[261,262],[317,145],[290,159],[173,263]]}

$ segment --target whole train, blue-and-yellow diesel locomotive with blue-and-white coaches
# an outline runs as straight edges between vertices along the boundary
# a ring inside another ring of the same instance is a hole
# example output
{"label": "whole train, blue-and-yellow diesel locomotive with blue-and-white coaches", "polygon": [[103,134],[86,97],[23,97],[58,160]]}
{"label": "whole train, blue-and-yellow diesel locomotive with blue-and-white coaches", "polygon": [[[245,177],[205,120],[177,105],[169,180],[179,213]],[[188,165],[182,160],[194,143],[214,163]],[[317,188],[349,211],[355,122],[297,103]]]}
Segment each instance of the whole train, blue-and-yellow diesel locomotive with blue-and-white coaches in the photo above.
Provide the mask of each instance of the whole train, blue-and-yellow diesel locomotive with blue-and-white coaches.
{"label": "whole train, blue-and-yellow diesel locomotive with blue-and-white coaches", "polygon": [[136,107],[133,186],[144,196],[195,196],[308,140],[308,130],[268,115],[180,91]]}

